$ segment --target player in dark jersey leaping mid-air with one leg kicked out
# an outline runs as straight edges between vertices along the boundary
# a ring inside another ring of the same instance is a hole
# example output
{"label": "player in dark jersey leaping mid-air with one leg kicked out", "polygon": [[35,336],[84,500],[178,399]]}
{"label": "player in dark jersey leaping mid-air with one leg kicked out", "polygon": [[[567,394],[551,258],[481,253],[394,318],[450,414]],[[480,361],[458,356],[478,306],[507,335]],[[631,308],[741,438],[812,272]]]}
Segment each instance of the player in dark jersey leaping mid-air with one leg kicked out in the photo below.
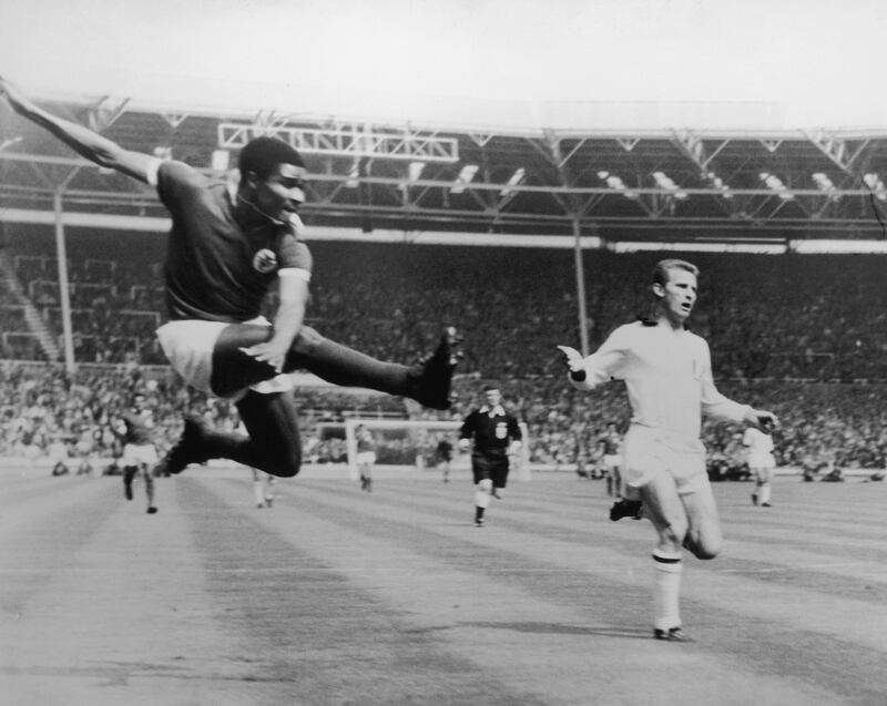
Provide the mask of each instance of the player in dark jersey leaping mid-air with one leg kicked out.
{"label": "player in dark jersey leaping mid-air with one leg kicked out", "polygon": [[[186,418],[165,470],[227,458],[275,475],[302,461],[292,379],[307,369],[340,386],[365,387],[448,409],[458,339],[445,329],[424,364],[383,362],[304,326],[312,273],[297,209],[305,166],[288,144],[258,137],[239,155],[239,178],[215,182],[181,162],[132,152],[34,105],[0,78],[0,95],[85,158],[155,185],[172,216],[164,280],[170,321],[157,331],[173,368],[193,387],[236,399],[248,436],[222,433]],[[272,285],[279,305],[261,317]]]}

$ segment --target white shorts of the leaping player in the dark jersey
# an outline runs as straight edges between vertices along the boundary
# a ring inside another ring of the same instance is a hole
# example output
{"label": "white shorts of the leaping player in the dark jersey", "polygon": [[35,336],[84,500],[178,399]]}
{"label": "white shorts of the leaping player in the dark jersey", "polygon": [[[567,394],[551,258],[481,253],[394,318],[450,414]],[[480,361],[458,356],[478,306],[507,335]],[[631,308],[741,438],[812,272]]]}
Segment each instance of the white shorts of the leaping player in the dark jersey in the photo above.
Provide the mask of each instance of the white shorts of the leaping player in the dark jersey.
{"label": "white shorts of the leaping player in the dark jersey", "polygon": [[[265,317],[258,317],[245,324],[271,326]],[[157,329],[157,340],[163,354],[179,375],[191,387],[201,392],[215,396],[210,381],[213,378],[213,350],[222,330],[230,326],[224,321],[202,321],[200,319],[184,319],[170,321]],[[289,375],[278,375],[276,378],[263,380],[249,387],[256,392],[287,392],[295,387]],[[246,389],[230,395],[230,398],[241,398]]]}

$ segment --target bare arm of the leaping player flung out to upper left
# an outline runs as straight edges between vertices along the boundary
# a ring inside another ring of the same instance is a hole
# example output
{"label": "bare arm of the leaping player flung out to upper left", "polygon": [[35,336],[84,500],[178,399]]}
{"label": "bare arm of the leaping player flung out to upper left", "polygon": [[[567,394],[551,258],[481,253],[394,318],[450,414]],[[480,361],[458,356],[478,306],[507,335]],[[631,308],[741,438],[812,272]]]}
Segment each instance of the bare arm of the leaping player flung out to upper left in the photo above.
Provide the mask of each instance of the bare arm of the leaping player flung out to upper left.
{"label": "bare arm of the leaping player flung out to upper left", "polygon": [[90,162],[116,170],[142,182],[151,181],[149,175],[156,170],[157,157],[124,150],[118,143],[83,125],[48,113],[34,105],[18,88],[2,76],[0,76],[0,95],[19,115],[44,127]]}

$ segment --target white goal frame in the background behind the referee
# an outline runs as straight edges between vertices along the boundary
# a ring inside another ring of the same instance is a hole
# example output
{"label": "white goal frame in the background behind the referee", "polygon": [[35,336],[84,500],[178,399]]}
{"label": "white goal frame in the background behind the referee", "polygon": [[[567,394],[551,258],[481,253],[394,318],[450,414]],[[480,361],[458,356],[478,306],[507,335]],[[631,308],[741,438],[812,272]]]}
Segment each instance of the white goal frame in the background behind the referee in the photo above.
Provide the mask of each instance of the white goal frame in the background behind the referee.
{"label": "white goal frame in the background behind the referee", "polygon": [[[452,443],[453,470],[470,470],[471,454],[460,453],[459,429],[461,421],[437,419],[364,419],[354,417],[345,420],[345,446],[348,458],[348,474],[353,480],[359,478],[357,470],[357,437],[359,426],[373,432],[376,441],[376,464],[401,467],[404,470],[436,470],[437,444],[441,439]],[[521,481],[530,480],[530,434],[524,422],[520,422],[523,434],[521,450],[511,457],[511,474]]]}

